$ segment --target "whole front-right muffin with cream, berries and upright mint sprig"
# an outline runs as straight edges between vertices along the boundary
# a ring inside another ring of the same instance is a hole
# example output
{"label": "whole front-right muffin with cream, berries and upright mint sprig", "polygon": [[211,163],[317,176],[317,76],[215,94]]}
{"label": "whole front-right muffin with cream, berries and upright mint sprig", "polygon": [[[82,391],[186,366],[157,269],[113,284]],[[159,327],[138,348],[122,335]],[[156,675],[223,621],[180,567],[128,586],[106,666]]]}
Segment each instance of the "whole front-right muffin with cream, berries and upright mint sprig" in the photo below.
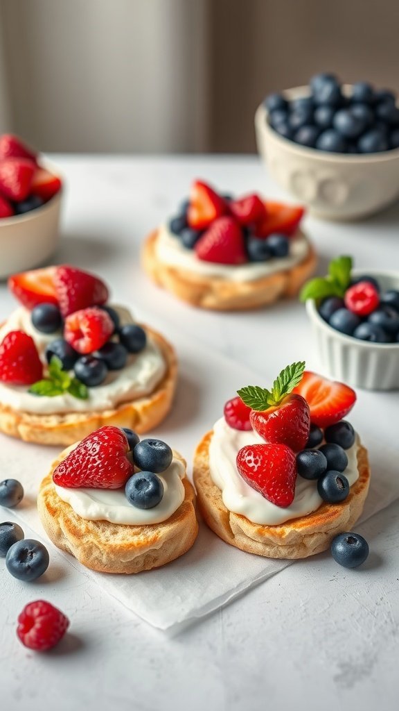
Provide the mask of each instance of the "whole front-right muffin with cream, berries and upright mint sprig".
{"label": "whole front-right muffin with cream, berries and upright mint sprig", "polygon": [[205,521],[241,550],[304,558],[327,550],[361,515],[367,451],[346,419],[354,390],[285,368],[271,390],[248,386],[197,447],[194,481]]}

